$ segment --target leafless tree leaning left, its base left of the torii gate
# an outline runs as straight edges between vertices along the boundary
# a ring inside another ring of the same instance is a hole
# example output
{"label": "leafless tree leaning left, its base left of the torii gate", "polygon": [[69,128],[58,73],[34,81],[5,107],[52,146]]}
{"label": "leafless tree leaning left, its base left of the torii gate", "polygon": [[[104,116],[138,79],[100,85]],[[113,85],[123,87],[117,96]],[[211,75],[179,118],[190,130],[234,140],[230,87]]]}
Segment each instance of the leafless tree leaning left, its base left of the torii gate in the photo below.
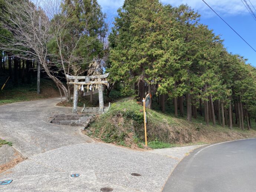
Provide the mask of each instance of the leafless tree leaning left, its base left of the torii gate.
{"label": "leafless tree leaning left, its base left of the torii gate", "polygon": [[37,60],[68,100],[68,90],[51,71],[47,43],[54,34],[50,33],[50,19],[40,8],[40,2],[7,0],[3,12],[0,24],[12,33],[12,37],[3,37],[6,42],[0,44],[0,49],[13,52],[20,58]]}

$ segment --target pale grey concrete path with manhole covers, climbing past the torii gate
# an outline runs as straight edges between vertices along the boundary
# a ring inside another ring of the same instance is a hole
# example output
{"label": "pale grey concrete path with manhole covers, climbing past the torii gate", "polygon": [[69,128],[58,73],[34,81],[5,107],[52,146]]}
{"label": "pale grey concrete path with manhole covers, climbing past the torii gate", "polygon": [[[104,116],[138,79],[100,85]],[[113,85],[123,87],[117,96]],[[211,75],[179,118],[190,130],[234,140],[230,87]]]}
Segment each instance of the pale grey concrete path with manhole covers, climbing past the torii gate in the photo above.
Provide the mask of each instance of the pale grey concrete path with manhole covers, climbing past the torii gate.
{"label": "pale grey concrete path with manhole covers, climbing past the torii gate", "polygon": [[[199,146],[137,151],[97,143],[81,128],[48,123],[55,114],[70,113],[56,107],[58,99],[0,106],[0,137],[13,142],[25,158],[0,174],[0,191],[161,191],[180,160]],[[80,176],[72,178],[70,175]],[[141,176],[132,176],[139,173]]]}

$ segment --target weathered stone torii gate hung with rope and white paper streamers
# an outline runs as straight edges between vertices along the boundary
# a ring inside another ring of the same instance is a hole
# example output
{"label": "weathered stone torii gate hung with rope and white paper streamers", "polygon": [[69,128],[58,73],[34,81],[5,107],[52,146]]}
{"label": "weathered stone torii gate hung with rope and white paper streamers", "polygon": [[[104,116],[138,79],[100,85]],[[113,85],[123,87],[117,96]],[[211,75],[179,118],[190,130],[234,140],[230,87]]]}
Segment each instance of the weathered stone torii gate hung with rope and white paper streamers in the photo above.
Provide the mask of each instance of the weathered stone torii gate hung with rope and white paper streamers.
{"label": "weathered stone torii gate hung with rope and white paper streamers", "polygon": [[[94,76],[70,76],[67,75],[67,78],[70,80],[74,80],[73,82],[69,82],[69,84],[74,85],[74,96],[73,96],[73,113],[77,113],[77,100],[78,100],[78,85],[98,85],[99,90],[99,110],[101,113],[104,112],[104,101],[103,101],[103,84],[108,84],[108,81],[103,81],[108,77],[109,73],[104,75],[94,75]],[[79,79],[84,79],[84,82],[78,82]],[[94,79],[90,81],[90,79]]]}

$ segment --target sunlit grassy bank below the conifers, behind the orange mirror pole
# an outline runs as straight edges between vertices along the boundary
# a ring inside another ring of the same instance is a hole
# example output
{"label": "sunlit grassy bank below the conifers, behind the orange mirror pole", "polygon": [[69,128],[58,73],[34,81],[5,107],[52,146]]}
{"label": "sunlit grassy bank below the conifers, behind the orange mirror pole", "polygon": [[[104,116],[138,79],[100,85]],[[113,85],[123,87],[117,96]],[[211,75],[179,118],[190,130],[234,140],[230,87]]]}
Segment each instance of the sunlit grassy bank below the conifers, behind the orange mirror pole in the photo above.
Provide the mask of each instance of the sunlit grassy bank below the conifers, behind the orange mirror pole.
{"label": "sunlit grassy bank below the conifers, behind the orange mirror pole", "polygon": [[[143,118],[143,108],[134,100],[116,102],[111,105],[111,109],[107,113],[97,117],[86,133],[104,142],[131,148],[143,148]],[[255,125],[252,127],[255,128]],[[233,130],[222,128],[219,125],[207,126],[203,122],[203,117],[200,116],[198,119],[193,119],[193,122],[188,122],[184,117],[175,118],[168,109],[167,114],[147,109],[147,133],[148,146],[151,148],[168,148],[256,137],[255,129],[242,131],[236,126]]]}

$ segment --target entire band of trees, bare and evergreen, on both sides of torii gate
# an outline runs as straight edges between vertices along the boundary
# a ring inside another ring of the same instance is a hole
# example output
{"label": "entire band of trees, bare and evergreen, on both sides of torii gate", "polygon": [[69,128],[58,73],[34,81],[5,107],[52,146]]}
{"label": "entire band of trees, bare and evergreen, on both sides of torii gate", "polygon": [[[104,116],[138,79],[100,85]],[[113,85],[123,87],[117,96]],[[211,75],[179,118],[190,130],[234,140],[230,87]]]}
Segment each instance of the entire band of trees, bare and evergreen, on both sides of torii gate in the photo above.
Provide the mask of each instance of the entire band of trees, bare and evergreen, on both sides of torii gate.
{"label": "entire band of trees, bare and evergreen, on both sides of torii gate", "polygon": [[66,75],[110,72],[107,95],[118,84],[140,102],[151,93],[163,113],[173,102],[175,116],[189,121],[199,112],[207,124],[244,129],[246,120],[250,129],[256,116],[255,67],[229,53],[188,5],[125,0],[109,34],[96,0],[0,0],[0,6],[0,70],[8,60],[16,78],[21,60],[23,68],[24,61],[37,63],[67,101]]}

